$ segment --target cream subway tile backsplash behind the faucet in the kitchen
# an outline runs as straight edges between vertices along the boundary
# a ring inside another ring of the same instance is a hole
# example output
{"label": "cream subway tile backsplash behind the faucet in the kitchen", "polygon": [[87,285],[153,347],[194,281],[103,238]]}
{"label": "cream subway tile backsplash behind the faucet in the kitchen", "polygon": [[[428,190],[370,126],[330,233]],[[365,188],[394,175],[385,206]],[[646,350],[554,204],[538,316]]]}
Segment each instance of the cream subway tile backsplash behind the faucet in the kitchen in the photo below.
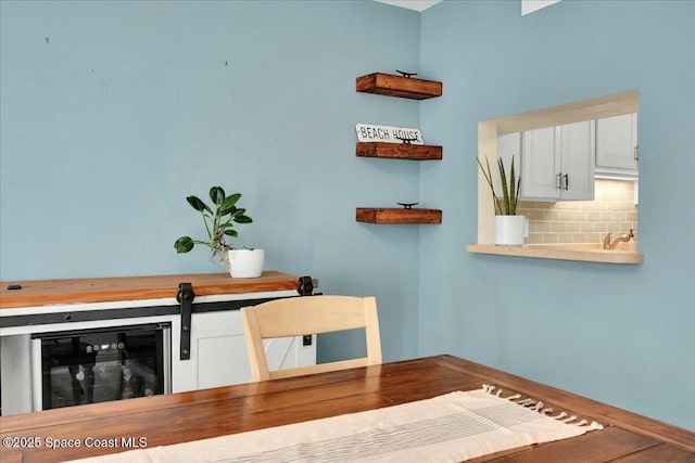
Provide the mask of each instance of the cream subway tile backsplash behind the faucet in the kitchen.
{"label": "cream subway tile backsplash behind the faucet in the kitchen", "polygon": [[520,201],[517,214],[529,219],[528,244],[601,243],[606,233],[637,234],[634,182],[597,179],[594,201]]}

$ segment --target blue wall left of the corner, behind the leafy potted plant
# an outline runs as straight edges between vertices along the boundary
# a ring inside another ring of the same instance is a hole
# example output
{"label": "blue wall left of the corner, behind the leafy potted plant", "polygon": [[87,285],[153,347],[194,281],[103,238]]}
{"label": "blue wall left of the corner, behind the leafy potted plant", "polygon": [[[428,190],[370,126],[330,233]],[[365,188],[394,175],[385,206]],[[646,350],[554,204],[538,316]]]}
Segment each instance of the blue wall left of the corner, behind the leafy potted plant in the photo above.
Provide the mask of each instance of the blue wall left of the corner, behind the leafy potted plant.
{"label": "blue wall left of the corner, behind the leafy potted plant", "polygon": [[[355,156],[355,124],[418,105],[355,92],[417,69],[419,14],[376,2],[2,1],[0,278],[223,271],[185,197],[243,193],[238,245],[320,291],[378,297],[387,360],[417,355],[417,163]],[[48,43],[46,39],[48,38]],[[350,346],[323,343],[325,356]]]}

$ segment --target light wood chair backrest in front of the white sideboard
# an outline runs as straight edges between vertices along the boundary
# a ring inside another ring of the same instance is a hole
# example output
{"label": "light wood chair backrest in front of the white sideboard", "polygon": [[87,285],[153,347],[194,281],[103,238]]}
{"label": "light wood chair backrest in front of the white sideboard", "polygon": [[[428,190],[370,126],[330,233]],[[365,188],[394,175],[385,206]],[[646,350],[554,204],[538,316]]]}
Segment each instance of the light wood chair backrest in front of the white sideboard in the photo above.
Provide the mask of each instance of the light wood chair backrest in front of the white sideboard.
{"label": "light wood chair backrest in front of the white sideboard", "polygon": [[[377,299],[374,296],[300,296],[241,309],[252,381],[301,376],[381,363]],[[316,365],[268,370],[263,339],[365,329],[367,356]]]}

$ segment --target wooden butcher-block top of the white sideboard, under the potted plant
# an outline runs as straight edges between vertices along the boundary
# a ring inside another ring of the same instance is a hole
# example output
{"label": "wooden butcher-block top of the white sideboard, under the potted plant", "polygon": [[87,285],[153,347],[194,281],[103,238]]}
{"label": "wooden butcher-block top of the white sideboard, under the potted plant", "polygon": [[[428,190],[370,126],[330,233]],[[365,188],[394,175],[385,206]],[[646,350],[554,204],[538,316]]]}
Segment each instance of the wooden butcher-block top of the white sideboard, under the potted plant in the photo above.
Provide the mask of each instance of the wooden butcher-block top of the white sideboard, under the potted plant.
{"label": "wooden butcher-block top of the white sideboard, under the potted plant", "polygon": [[[229,273],[200,273],[3,281],[0,282],[0,309],[176,297],[179,283],[191,283],[195,296],[207,296],[296,290],[299,276],[266,271],[255,279],[232,279]],[[18,284],[22,288],[8,290],[11,284]]]}

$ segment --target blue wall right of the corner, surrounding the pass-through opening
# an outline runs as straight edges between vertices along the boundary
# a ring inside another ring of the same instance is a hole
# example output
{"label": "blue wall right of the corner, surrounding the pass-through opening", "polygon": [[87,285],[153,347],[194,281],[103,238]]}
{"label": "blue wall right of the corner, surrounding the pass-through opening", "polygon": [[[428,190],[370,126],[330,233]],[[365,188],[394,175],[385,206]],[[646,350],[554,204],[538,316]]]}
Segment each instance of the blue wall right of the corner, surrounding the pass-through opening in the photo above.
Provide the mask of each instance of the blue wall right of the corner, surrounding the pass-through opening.
{"label": "blue wall right of the corner, surrounding the pass-through opening", "polygon": [[[695,429],[695,3],[444,1],[421,68],[444,82],[421,126],[420,355],[442,351]],[[642,266],[465,252],[477,240],[478,121],[640,92]]]}

